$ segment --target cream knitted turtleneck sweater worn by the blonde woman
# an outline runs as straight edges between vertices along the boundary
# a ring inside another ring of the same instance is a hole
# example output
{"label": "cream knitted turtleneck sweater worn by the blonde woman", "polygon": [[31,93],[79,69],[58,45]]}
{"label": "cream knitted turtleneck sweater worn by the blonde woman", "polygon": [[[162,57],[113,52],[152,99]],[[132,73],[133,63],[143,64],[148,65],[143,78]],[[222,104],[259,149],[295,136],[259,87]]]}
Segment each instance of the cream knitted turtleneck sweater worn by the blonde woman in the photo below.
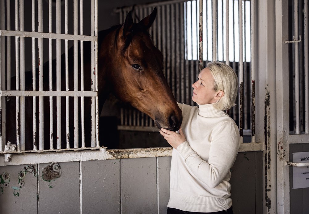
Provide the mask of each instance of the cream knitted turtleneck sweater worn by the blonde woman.
{"label": "cream knitted turtleneck sweater worn by the blonde woman", "polygon": [[167,207],[190,212],[218,212],[232,206],[230,169],[239,149],[239,130],[213,104],[178,104],[186,137],[173,149]]}

